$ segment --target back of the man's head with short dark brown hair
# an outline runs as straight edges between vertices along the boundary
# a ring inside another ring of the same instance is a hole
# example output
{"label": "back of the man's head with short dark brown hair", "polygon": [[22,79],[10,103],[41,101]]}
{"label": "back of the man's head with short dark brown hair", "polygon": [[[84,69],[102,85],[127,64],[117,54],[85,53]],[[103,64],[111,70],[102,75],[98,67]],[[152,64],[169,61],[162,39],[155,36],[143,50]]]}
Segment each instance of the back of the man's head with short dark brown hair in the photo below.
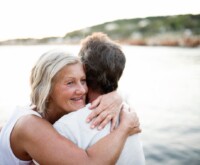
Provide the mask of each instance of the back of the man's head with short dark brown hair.
{"label": "back of the man's head with short dark brown hair", "polygon": [[117,43],[106,34],[93,33],[82,41],[79,56],[85,65],[89,88],[101,94],[117,89],[126,62]]}

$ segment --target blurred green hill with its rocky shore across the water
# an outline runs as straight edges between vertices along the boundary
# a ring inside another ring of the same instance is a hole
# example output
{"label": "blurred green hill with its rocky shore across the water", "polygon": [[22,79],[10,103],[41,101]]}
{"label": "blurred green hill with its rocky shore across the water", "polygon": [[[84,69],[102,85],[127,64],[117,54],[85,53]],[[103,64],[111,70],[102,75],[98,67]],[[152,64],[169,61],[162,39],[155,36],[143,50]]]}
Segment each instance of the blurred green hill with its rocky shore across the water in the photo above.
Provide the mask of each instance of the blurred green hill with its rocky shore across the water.
{"label": "blurred green hill with its rocky shore across the water", "polygon": [[93,32],[104,32],[113,40],[129,45],[200,46],[200,14],[122,19],[67,33],[63,37],[16,39],[9,44],[79,44]]}

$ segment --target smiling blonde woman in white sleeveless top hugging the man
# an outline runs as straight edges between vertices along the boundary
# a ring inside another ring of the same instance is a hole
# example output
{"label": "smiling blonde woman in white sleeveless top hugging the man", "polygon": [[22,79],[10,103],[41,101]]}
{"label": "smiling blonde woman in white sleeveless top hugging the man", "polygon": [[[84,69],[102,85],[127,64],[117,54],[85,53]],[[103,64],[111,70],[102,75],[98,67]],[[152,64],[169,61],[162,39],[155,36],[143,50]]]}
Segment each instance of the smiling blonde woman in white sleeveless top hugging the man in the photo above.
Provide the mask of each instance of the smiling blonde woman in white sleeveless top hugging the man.
{"label": "smiling blonde woman in white sleeveless top hugging the man", "polygon": [[41,56],[31,74],[32,106],[19,107],[0,134],[5,165],[113,164],[129,135],[140,132],[134,113],[122,112],[119,127],[86,151],[61,136],[52,124],[85,106],[86,77],[80,60],[64,51]]}

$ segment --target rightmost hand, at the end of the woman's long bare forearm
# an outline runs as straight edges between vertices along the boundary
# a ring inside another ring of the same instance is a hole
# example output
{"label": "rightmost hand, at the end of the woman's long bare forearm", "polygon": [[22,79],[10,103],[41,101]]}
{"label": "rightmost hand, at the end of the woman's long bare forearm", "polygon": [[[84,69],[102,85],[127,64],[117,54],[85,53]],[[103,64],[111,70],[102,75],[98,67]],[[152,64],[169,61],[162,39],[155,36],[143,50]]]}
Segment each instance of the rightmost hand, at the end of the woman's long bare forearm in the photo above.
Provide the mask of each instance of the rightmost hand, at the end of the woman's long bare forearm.
{"label": "rightmost hand, at the end of the woman's long bare forearm", "polygon": [[139,119],[132,108],[122,108],[119,127],[125,129],[129,136],[141,132]]}

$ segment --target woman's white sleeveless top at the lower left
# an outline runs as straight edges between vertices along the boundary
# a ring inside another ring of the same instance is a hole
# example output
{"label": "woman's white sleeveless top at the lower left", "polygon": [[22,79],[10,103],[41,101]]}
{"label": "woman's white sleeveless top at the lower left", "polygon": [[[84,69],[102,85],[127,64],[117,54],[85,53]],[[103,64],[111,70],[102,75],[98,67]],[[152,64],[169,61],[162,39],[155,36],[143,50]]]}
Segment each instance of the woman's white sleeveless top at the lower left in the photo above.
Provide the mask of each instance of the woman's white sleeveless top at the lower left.
{"label": "woman's white sleeveless top at the lower left", "polygon": [[11,118],[4,125],[0,132],[0,165],[28,165],[31,161],[18,159],[12,152],[10,146],[10,135],[16,122],[25,115],[36,115],[41,117],[37,112],[27,107],[17,107]]}

